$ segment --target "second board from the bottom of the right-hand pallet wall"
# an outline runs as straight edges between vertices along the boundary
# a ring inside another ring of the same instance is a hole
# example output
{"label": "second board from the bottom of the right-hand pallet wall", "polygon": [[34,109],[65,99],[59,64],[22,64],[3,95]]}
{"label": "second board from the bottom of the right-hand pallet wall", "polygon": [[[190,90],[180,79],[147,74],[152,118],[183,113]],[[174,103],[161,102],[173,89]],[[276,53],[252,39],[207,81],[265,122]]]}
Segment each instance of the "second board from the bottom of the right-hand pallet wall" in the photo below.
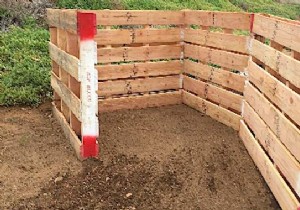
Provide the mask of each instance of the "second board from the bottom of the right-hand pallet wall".
{"label": "second board from the bottom of the right-hand pallet wall", "polygon": [[246,124],[254,132],[255,138],[259,140],[265,151],[270,155],[274,164],[280,169],[283,176],[290,183],[296,194],[300,195],[298,186],[300,164],[293,155],[286,149],[282,142],[268,128],[265,122],[248,104],[244,104],[243,118]]}

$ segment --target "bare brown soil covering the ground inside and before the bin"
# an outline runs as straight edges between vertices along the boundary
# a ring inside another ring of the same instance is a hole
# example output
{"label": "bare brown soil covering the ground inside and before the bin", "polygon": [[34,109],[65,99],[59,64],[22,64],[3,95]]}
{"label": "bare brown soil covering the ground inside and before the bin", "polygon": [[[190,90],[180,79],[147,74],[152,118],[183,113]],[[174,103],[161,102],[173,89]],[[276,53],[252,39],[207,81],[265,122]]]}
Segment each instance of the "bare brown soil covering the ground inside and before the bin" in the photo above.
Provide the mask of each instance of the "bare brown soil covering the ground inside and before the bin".
{"label": "bare brown soil covering the ground inside and before the bin", "polygon": [[279,209],[237,133],[184,105],[102,114],[83,163],[49,104],[0,116],[0,209]]}

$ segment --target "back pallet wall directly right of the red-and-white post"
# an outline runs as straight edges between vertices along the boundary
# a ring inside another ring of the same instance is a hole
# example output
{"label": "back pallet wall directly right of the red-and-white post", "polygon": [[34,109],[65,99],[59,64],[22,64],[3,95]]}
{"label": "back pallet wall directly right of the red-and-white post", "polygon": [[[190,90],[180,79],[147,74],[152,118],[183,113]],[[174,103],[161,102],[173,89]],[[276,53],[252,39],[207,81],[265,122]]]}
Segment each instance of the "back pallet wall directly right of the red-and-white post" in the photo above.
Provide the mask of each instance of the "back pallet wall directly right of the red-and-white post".
{"label": "back pallet wall directly right of the red-and-white post", "polygon": [[97,14],[99,111],[181,103],[181,11]]}

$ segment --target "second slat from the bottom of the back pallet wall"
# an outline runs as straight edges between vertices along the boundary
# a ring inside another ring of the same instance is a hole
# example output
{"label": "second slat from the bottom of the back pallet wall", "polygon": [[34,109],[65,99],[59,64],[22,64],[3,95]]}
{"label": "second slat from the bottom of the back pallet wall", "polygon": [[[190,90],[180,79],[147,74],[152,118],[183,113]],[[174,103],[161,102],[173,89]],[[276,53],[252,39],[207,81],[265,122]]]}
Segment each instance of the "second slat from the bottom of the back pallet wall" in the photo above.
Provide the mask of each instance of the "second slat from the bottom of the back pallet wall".
{"label": "second slat from the bottom of the back pallet wall", "polygon": [[179,89],[179,75],[167,77],[139,78],[135,80],[114,80],[98,83],[98,96],[141,93]]}

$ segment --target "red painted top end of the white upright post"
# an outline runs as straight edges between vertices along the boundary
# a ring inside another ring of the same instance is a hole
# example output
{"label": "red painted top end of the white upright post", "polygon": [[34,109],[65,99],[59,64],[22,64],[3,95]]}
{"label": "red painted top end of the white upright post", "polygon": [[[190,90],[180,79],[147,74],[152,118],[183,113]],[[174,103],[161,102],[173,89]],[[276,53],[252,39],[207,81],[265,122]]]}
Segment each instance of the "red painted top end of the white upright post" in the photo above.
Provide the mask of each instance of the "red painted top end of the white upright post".
{"label": "red painted top end of the white upright post", "polygon": [[94,39],[97,33],[96,14],[78,12],[77,30],[81,41]]}

